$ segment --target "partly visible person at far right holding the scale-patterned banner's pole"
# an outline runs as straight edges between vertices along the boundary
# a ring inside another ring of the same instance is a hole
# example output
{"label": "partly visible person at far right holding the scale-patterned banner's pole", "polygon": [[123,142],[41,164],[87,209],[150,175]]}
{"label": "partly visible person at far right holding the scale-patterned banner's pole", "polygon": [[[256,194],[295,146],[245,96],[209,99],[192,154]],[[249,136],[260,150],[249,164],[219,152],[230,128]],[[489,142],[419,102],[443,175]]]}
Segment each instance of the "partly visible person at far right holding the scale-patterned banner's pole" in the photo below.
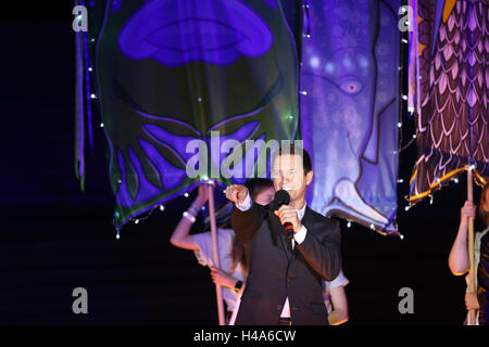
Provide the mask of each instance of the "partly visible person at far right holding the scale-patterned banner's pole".
{"label": "partly visible person at far right holding the scale-patterned banner's pole", "polygon": [[[461,221],[459,226],[459,232],[456,234],[455,241],[453,243],[452,249],[449,255],[449,268],[455,275],[462,275],[466,273],[471,267],[468,259],[468,246],[467,246],[467,235],[468,235],[468,219],[469,217],[476,217],[477,207],[474,203],[466,201],[461,209]],[[482,189],[479,204],[479,216],[482,222],[486,224],[486,229],[481,232],[476,232],[474,235],[474,258],[476,261],[476,267],[480,260],[477,270],[477,282],[478,282],[478,293],[465,293],[465,307],[467,310],[484,310],[487,316],[487,232],[489,231],[489,184],[486,184]],[[486,245],[485,245],[486,243]],[[481,252],[481,245],[485,245],[485,250]],[[484,267],[486,266],[486,275],[484,275]],[[465,277],[468,285],[468,274]],[[479,283],[482,281],[482,283]],[[486,291],[486,292],[485,292]],[[481,293],[484,292],[484,293]],[[484,301],[484,303],[481,303]],[[484,304],[484,305],[481,305]],[[476,324],[480,323],[481,312],[477,312]],[[468,313],[467,313],[468,314]],[[468,316],[467,316],[468,317]],[[467,323],[465,320],[464,324]],[[486,323],[487,324],[487,318]]]}

